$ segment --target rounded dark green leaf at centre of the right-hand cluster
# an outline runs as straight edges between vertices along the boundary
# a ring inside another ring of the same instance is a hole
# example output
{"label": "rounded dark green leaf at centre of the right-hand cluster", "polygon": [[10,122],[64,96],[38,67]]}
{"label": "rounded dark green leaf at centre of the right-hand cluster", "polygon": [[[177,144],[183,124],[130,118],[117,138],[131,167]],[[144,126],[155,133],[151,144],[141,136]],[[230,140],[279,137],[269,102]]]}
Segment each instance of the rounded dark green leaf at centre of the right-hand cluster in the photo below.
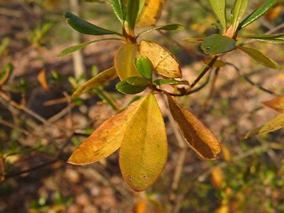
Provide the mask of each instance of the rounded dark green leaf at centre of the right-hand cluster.
{"label": "rounded dark green leaf at centre of the right-hand cluster", "polygon": [[204,39],[201,49],[205,54],[226,53],[236,48],[236,40],[220,34],[213,34]]}

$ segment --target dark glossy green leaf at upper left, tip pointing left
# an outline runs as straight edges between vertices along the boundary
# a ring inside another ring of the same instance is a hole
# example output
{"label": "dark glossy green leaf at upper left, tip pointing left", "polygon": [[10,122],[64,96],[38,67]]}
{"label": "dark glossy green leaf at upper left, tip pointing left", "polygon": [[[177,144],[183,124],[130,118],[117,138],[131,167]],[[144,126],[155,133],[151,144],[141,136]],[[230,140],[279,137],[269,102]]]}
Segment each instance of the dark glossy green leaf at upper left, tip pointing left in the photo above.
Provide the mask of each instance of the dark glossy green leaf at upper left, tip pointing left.
{"label": "dark glossy green leaf at upper left, tip pointing left", "polygon": [[82,20],[78,16],[75,16],[75,14],[70,12],[65,12],[64,17],[67,21],[67,23],[76,31],[88,35],[121,35],[120,33],[116,33],[114,31],[109,31],[104,28],[100,28],[99,26],[95,26],[92,23],[89,23],[87,21]]}

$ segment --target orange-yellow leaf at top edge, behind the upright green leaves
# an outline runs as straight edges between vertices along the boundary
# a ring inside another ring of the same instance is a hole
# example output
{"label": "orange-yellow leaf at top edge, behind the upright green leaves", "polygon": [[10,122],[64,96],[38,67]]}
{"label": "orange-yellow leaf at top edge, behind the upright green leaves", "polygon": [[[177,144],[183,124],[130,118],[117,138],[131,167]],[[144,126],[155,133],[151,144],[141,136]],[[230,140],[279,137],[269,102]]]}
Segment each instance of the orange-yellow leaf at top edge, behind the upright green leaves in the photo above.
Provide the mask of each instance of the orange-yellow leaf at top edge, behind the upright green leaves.
{"label": "orange-yellow leaf at top edge, behind the upright green leaves", "polygon": [[136,26],[154,26],[160,18],[161,11],[163,9],[164,0],[146,0],[145,6],[141,15],[139,16]]}

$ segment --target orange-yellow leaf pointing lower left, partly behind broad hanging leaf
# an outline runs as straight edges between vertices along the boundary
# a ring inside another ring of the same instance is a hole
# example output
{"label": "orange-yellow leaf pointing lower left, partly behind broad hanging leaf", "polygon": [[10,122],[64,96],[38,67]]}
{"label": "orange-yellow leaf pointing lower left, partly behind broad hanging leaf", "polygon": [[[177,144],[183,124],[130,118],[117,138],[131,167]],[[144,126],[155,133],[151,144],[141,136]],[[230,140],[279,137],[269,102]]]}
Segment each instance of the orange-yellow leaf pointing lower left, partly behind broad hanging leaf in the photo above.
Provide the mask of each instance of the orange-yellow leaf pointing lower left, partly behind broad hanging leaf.
{"label": "orange-yellow leaf pointing lower left, partly behind broad hanging leaf", "polygon": [[131,104],[125,111],[105,121],[89,138],[80,144],[67,163],[75,165],[94,163],[107,158],[119,149],[126,126],[128,126],[133,114],[140,109],[143,100]]}

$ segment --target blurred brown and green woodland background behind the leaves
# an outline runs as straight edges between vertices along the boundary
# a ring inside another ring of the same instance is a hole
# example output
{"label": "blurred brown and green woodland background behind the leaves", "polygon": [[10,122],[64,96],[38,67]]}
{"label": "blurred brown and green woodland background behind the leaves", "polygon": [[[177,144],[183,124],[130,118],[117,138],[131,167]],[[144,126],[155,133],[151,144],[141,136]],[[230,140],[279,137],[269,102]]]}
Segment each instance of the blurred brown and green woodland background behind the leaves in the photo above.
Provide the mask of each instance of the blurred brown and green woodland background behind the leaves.
{"label": "blurred brown and green woodland background behind the leaves", "polygon": [[[249,1],[249,11],[261,2]],[[227,4],[229,14],[234,1]],[[70,45],[94,39],[75,33],[64,20],[64,11],[120,31],[104,2],[0,0],[0,68],[11,69],[9,80],[0,87],[0,212],[284,212],[284,131],[242,139],[277,115],[261,102],[284,93],[284,72],[262,67],[239,51],[222,59],[239,67],[240,73],[222,67],[200,92],[179,98],[221,141],[217,160],[201,160],[179,143],[175,124],[167,120],[168,162],[146,192],[134,193],[126,186],[118,152],[92,165],[68,165],[66,160],[80,141],[115,114],[116,107],[123,109],[137,97],[119,94],[110,84],[70,101],[79,84],[113,66],[121,43],[95,43],[81,56],[57,57]],[[283,20],[284,6],[278,4],[244,33],[275,28],[283,32]],[[186,30],[155,32],[143,39],[171,50],[184,79],[192,82],[206,56],[197,44],[182,38],[216,33],[214,22],[207,0],[165,1],[158,23],[181,23]],[[249,46],[284,65],[283,45]],[[206,81],[205,77],[201,83]],[[115,100],[115,106],[108,99]],[[158,99],[166,117],[163,99]]]}

